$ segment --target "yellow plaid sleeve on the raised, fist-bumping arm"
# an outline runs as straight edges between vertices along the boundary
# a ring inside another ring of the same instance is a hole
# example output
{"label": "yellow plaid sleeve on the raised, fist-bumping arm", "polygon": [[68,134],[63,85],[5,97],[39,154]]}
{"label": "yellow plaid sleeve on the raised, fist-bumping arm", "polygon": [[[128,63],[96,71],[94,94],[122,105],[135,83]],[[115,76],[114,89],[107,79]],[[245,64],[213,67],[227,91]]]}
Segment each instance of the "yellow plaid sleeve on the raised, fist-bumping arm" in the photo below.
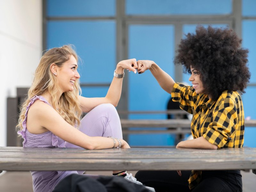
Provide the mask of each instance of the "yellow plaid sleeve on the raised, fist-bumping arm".
{"label": "yellow plaid sleeve on the raised, fist-bumping arm", "polygon": [[186,86],[181,83],[175,83],[172,89],[172,100],[180,102],[180,108],[192,114],[192,98],[196,96],[196,92],[192,91],[191,86]]}

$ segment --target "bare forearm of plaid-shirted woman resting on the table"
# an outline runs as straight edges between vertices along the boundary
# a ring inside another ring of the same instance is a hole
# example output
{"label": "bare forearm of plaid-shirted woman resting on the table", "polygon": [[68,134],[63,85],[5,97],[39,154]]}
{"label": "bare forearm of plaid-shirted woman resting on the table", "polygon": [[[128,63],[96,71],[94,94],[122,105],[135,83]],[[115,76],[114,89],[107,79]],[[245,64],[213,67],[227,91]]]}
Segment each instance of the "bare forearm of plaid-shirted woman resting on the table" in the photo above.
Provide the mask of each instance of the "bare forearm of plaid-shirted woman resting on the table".
{"label": "bare forearm of plaid-shirted woman resting on the table", "polygon": [[218,147],[202,136],[192,140],[181,141],[176,148],[217,149]]}

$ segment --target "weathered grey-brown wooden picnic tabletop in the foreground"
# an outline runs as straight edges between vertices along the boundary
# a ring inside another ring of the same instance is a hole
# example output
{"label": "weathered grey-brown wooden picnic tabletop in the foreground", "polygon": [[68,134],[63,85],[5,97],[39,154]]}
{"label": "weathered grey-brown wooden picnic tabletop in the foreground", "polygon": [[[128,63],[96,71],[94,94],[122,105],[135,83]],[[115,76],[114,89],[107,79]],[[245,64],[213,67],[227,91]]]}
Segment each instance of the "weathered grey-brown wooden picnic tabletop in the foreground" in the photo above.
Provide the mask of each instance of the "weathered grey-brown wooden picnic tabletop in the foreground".
{"label": "weathered grey-brown wooden picnic tabletop in the foreground", "polygon": [[256,169],[256,148],[218,150],[176,148],[0,147],[0,170],[221,170]]}

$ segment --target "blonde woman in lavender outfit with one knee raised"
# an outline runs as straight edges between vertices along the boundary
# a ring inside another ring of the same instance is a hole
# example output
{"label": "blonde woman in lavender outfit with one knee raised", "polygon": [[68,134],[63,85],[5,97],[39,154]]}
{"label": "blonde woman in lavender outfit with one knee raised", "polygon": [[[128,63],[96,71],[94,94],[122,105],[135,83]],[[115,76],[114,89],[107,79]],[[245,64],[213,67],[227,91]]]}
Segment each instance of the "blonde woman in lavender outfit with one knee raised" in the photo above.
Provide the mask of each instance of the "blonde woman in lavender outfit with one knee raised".
{"label": "blonde woman in lavender outfit with one knee raised", "polygon": [[[120,99],[124,69],[136,73],[136,60],[117,64],[103,98],[79,96],[77,60],[76,52],[69,45],[52,48],[42,56],[17,125],[18,134],[24,139],[23,147],[130,148],[122,139],[121,123],[114,106]],[[80,121],[82,112],[87,115]],[[52,191],[61,179],[73,173],[78,172],[31,171],[34,192]],[[126,171],[113,171],[113,175],[142,185]]]}

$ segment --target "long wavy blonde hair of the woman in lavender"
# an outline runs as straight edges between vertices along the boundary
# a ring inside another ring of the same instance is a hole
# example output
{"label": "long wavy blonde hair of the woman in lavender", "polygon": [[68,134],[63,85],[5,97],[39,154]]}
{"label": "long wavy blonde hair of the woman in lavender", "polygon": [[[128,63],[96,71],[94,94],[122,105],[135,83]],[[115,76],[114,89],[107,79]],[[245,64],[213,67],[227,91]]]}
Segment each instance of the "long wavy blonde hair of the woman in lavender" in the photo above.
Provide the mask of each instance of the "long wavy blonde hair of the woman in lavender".
{"label": "long wavy blonde hair of the woman in lavender", "polygon": [[62,116],[62,118],[69,124],[79,127],[82,110],[79,106],[78,96],[81,93],[79,81],[75,81],[74,90],[72,92],[62,93],[60,98],[57,98],[57,92],[61,92],[58,86],[57,78],[52,74],[50,65],[55,63],[61,67],[64,62],[69,60],[73,55],[78,62],[78,57],[71,45],[63,45],[62,47],[55,47],[41,57],[38,67],[36,68],[33,83],[28,90],[28,95],[24,103],[20,107],[20,117],[17,130],[22,130],[22,122],[25,119],[26,108],[30,99],[35,95],[42,95],[49,92],[52,96],[52,107]]}

